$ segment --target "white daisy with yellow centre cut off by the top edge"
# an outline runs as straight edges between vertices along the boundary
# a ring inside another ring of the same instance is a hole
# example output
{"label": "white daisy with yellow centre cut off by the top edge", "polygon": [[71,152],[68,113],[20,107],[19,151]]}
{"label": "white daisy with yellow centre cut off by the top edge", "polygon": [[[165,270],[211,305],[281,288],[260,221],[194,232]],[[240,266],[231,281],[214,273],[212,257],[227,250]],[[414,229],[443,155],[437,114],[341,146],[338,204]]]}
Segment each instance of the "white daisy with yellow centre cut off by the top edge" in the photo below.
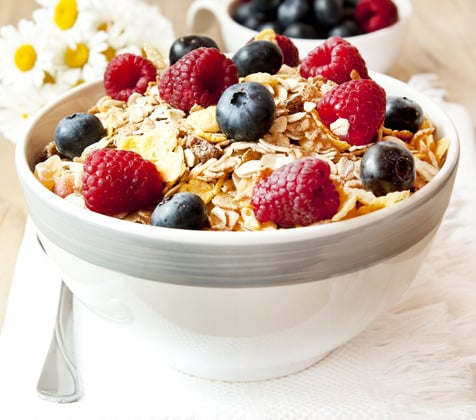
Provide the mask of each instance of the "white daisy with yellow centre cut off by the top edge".
{"label": "white daisy with yellow centre cut off by the top edge", "polygon": [[77,44],[95,31],[96,16],[90,0],[37,0],[43,8],[33,12],[33,20],[51,30],[50,36]]}

